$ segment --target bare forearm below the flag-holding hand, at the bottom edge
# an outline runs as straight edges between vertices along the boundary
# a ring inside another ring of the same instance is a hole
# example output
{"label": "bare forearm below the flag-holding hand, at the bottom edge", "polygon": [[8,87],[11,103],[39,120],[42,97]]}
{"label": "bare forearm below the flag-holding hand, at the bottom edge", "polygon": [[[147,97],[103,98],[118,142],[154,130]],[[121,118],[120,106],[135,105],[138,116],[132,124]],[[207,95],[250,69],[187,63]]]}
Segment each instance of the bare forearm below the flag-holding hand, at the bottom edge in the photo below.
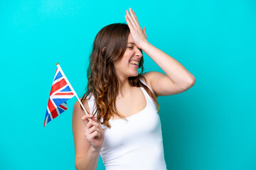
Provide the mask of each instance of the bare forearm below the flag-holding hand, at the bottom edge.
{"label": "bare forearm below the flag-holding hand, at the bottom edge", "polygon": [[100,150],[90,147],[85,157],[81,157],[75,162],[75,168],[77,170],[96,170],[99,157]]}

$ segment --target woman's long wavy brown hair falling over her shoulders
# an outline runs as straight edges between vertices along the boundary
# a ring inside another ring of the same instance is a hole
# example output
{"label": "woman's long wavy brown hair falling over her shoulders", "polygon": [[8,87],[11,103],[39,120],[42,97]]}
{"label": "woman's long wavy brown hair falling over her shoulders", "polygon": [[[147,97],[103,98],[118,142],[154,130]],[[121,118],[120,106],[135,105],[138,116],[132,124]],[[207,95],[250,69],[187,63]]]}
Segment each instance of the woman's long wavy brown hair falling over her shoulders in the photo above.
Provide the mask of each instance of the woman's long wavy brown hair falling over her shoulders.
{"label": "woman's long wavy brown hair falling over her shoulders", "polygon": [[[130,30],[127,24],[110,24],[97,33],[92,46],[90,64],[87,69],[87,92],[82,96],[81,102],[85,103],[86,99],[89,99],[91,97],[90,94],[92,94],[96,102],[96,111],[94,111],[93,116],[97,114],[97,122],[106,125],[107,128],[111,128],[109,120],[112,116],[114,117],[114,114],[127,120],[118,113],[115,104],[119,81],[114,69],[114,62],[120,60],[127,50],[129,33]],[[147,86],[139,81],[139,79],[146,81],[142,76],[143,57],[139,62],[139,69],[141,69],[141,72],[137,77],[128,78],[129,85],[137,87],[142,86],[149,96],[153,98],[158,110],[157,113],[159,113],[159,104],[156,101],[156,94],[153,94]],[[101,118],[103,118],[103,122],[100,122]]]}

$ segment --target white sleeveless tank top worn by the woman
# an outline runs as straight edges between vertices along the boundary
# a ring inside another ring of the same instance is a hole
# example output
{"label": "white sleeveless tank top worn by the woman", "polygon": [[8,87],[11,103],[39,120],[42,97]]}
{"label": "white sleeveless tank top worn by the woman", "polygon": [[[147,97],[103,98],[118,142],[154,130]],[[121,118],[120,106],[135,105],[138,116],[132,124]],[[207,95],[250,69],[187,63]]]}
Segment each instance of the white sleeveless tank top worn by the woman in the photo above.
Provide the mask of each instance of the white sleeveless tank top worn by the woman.
{"label": "white sleeveless tank top worn by the woman", "polygon": [[[142,79],[140,81],[147,86]],[[111,128],[102,125],[107,129],[100,156],[106,170],[166,170],[160,118],[153,99],[143,87],[140,88],[146,97],[146,107],[142,111],[127,117],[127,121],[110,119]],[[93,113],[94,96],[87,102]]]}

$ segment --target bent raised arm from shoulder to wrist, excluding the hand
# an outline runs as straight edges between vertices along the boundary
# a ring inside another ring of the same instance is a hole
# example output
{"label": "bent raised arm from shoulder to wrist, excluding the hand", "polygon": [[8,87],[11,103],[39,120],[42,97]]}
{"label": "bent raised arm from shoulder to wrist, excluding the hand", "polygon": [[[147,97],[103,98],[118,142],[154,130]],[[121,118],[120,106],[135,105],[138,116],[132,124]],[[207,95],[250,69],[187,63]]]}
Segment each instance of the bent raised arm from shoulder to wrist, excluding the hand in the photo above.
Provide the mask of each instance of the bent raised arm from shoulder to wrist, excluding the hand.
{"label": "bent raised arm from shoulder to wrist, excluding the hand", "polygon": [[154,47],[149,42],[145,42],[142,45],[142,50],[166,73],[148,72],[144,74],[144,77],[149,81],[151,88],[156,92],[157,96],[179,94],[195,84],[196,78],[193,74],[188,72],[173,57]]}

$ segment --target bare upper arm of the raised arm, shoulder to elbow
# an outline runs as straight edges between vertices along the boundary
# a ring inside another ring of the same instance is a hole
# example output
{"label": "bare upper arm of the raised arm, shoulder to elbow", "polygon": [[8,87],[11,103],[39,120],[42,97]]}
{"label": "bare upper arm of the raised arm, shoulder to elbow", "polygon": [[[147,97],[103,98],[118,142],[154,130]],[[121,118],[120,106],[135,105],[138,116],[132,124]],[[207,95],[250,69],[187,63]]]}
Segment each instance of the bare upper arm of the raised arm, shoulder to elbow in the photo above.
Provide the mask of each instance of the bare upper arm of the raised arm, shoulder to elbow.
{"label": "bare upper arm of the raised arm, shoulder to elbow", "polygon": [[188,90],[191,86],[178,86],[161,72],[146,72],[142,74],[146,79],[146,84],[154,91],[156,96],[171,96],[180,94]]}

